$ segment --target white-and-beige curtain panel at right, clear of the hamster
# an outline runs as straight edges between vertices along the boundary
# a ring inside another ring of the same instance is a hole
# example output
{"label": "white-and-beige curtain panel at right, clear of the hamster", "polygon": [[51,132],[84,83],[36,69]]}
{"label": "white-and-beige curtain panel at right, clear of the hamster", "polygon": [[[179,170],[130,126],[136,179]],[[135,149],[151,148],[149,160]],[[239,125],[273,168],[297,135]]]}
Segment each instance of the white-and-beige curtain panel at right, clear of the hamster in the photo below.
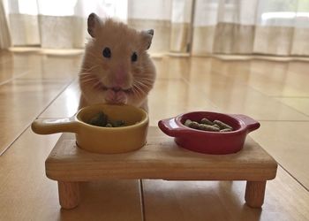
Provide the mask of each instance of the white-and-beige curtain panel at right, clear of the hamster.
{"label": "white-and-beige curtain panel at right, clear of the hamster", "polygon": [[309,55],[308,0],[196,0],[194,55]]}

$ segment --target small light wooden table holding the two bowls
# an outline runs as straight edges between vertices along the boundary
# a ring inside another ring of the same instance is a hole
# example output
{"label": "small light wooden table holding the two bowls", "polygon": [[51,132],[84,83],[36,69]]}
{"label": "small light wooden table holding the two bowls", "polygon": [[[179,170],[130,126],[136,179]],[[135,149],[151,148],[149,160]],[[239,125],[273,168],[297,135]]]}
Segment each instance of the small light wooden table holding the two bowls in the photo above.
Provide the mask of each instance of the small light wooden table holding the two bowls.
{"label": "small light wooden table holding the two bowls", "polygon": [[[102,141],[103,142],[103,141]],[[245,147],[231,155],[205,155],[182,149],[159,128],[149,127],[147,145],[124,154],[101,155],[79,149],[73,133],[64,133],[45,162],[46,175],[58,182],[62,208],[79,204],[79,182],[100,179],[246,180],[245,202],[259,208],[266,182],[277,164],[247,137]]]}

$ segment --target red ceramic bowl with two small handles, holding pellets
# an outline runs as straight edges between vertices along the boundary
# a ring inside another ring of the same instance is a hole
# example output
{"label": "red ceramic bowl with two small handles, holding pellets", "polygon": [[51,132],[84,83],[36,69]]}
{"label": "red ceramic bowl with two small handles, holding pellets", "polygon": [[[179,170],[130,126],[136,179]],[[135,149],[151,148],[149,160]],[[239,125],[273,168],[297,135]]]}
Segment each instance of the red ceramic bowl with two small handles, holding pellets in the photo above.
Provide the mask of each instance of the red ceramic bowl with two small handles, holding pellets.
{"label": "red ceramic bowl with two small handles, holding pellets", "polygon": [[[186,119],[200,121],[201,118],[221,120],[233,127],[231,132],[208,132],[192,129],[184,125]],[[256,120],[241,114],[223,114],[197,111],[178,115],[176,118],[162,119],[158,126],[163,133],[175,137],[177,145],[205,154],[231,154],[243,148],[245,137],[260,127]]]}

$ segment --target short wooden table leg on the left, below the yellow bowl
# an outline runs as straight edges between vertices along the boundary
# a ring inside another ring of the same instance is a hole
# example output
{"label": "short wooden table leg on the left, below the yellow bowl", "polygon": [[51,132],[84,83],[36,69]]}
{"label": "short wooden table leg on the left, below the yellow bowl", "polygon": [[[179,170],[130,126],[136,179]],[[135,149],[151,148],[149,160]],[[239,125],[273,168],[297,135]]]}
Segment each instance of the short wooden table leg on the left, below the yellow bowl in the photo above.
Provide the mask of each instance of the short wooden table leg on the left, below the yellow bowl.
{"label": "short wooden table leg on the left, below the yellow bowl", "polygon": [[79,205],[79,182],[58,181],[59,202],[64,209],[73,209]]}

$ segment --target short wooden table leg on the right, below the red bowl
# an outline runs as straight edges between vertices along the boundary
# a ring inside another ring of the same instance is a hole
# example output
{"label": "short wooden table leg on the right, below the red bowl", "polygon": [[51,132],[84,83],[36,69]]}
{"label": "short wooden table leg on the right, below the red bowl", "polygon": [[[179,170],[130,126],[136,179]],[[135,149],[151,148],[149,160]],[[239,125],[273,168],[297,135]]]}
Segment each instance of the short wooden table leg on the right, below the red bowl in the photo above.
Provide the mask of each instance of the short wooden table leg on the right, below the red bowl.
{"label": "short wooden table leg on the right, below the red bowl", "polygon": [[247,181],[245,187],[245,202],[252,208],[260,208],[264,202],[266,180]]}

